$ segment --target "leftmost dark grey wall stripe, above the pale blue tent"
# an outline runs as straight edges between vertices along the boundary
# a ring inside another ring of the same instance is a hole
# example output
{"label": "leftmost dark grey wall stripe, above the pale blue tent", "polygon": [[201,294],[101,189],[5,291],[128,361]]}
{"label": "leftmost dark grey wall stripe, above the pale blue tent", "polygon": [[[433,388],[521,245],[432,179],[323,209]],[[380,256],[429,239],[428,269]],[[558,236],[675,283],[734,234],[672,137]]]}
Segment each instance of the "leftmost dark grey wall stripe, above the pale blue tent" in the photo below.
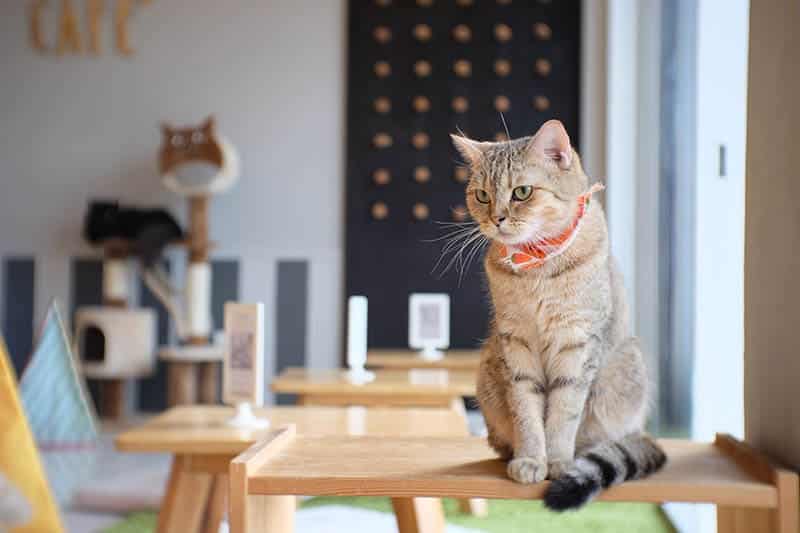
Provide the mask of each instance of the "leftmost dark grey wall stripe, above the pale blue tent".
{"label": "leftmost dark grey wall stripe, above the pale blue tent", "polygon": [[2,333],[17,376],[33,350],[35,270],[32,257],[9,257],[3,261]]}

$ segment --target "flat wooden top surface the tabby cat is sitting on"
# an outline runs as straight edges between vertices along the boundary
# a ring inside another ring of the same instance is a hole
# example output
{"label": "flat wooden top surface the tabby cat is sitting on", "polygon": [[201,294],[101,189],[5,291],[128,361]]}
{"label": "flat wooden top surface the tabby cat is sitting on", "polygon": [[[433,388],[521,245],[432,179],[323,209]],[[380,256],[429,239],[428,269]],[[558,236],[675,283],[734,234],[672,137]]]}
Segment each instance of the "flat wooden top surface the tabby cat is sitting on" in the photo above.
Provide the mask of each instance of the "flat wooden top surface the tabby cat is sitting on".
{"label": "flat wooden top surface the tabby cat is sitting on", "polygon": [[[511,481],[505,462],[478,437],[320,438],[283,431],[278,438],[288,438],[279,446],[270,450],[267,439],[234,461],[251,467],[250,494],[531,499],[541,498],[549,483]],[[714,444],[660,443],[669,457],[663,470],[612,487],[601,499],[777,505],[775,486],[748,474]]]}

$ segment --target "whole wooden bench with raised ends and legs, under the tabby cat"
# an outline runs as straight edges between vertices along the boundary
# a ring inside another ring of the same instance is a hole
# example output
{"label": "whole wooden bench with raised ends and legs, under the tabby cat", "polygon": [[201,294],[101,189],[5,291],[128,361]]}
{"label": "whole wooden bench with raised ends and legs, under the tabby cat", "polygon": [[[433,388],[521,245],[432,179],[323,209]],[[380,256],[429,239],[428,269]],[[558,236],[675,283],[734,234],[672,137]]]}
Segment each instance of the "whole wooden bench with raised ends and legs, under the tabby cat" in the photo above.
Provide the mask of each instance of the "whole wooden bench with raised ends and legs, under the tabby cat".
{"label": "whole wooden bench with raised ends and legs, under the tabby cat", "polygon": [[[614,486],[601,500],[717,505],[720,533],[797,533],[798,478],[735,439],[662,440],[663,470]],[[390,496],[401,533],[441,533],[441,509],[425,498],[540,499],[549,482],[523,485],[477,437],[318,438],[293,427],[270,436],[230,466],[231,533],[291,533],[294,496]],[[416,498],[413,506],[410,499]],[[398,510],[399,509],[399,510]]]}

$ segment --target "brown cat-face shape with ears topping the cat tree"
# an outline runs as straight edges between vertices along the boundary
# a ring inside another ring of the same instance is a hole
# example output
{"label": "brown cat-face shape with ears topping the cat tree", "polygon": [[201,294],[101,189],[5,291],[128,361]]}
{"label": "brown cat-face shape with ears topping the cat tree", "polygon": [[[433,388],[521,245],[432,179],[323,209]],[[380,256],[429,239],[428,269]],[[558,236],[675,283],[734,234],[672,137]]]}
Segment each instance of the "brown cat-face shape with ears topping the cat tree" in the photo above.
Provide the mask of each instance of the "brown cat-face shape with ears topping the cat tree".
{"label": "brown cat-face shape with ears topping the cat tree", "polygon": [[175,128],[161,125],[161,173],[173,173],[184,163],[208,163],[220,168],[223,165],[222,147],[217,140],[214,118],[208,117],[197,127]]}

